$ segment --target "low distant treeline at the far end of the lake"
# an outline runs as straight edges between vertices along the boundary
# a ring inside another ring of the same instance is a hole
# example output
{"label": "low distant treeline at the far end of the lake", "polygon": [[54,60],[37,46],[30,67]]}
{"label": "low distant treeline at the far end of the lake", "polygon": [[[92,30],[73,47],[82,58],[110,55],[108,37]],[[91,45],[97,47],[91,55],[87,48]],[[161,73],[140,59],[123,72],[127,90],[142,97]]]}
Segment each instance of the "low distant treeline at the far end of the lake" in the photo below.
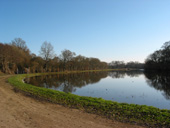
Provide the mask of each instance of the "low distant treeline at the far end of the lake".
{"label": "low distant treeline at the far end of the lake", "polygon": [[126,68],[126,69],[143,69],[144,63],[134,62],[130,61],[125,63],[124,61],[112,61],[109,63],[109,68],[111,69],[120,69],[120,68]]}

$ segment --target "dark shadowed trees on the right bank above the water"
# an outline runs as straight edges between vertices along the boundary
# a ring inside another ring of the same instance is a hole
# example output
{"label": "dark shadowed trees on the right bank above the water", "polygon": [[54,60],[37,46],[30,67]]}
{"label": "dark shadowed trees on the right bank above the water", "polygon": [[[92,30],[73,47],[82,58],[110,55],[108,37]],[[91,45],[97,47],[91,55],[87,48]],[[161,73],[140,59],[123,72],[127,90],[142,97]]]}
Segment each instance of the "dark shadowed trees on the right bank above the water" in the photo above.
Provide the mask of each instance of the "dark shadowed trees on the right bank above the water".
{"label": "dark shadowed trees on the right bank above the water", "polygon": [[145,70],[170,71],[170,41],[147,57]]}

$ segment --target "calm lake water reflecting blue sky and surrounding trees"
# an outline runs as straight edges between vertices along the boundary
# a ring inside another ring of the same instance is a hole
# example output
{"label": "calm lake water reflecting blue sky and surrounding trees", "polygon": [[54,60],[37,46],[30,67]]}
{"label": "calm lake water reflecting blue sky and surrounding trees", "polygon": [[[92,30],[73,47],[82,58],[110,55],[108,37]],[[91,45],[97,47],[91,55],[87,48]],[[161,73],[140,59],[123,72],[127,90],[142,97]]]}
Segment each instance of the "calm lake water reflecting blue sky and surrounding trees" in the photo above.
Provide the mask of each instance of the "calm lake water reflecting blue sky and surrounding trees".
{"label": "calm lake water reflecting blue sky and surrounding trees", "polygon": [[170,109],[169,76],[142,71],[93,72],[38,76],[26,82],[80,96]]}

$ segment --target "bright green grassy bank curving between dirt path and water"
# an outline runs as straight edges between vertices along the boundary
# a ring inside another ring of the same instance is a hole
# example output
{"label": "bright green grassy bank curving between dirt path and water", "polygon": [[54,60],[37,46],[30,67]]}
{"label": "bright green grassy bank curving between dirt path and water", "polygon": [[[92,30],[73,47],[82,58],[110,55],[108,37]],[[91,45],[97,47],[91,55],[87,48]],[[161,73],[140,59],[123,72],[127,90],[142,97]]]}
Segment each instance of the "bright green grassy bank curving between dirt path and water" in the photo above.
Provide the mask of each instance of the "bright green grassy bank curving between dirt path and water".
{"label": "bright green grassy bank curving between dirt path and water", "polygon": [[170,110],[161,110],[146,105],[117,103],[102,98],[77,96],[70,93],[36,87],[22,82],[25,77],[47,74],[49,73],[16,75],[10,77],[8,81],[15,89],[39,99],[48,100],[68,107],[83,109],[86,112],[99,114],[123,122],[138,123],[152,127],[170,127]]}

